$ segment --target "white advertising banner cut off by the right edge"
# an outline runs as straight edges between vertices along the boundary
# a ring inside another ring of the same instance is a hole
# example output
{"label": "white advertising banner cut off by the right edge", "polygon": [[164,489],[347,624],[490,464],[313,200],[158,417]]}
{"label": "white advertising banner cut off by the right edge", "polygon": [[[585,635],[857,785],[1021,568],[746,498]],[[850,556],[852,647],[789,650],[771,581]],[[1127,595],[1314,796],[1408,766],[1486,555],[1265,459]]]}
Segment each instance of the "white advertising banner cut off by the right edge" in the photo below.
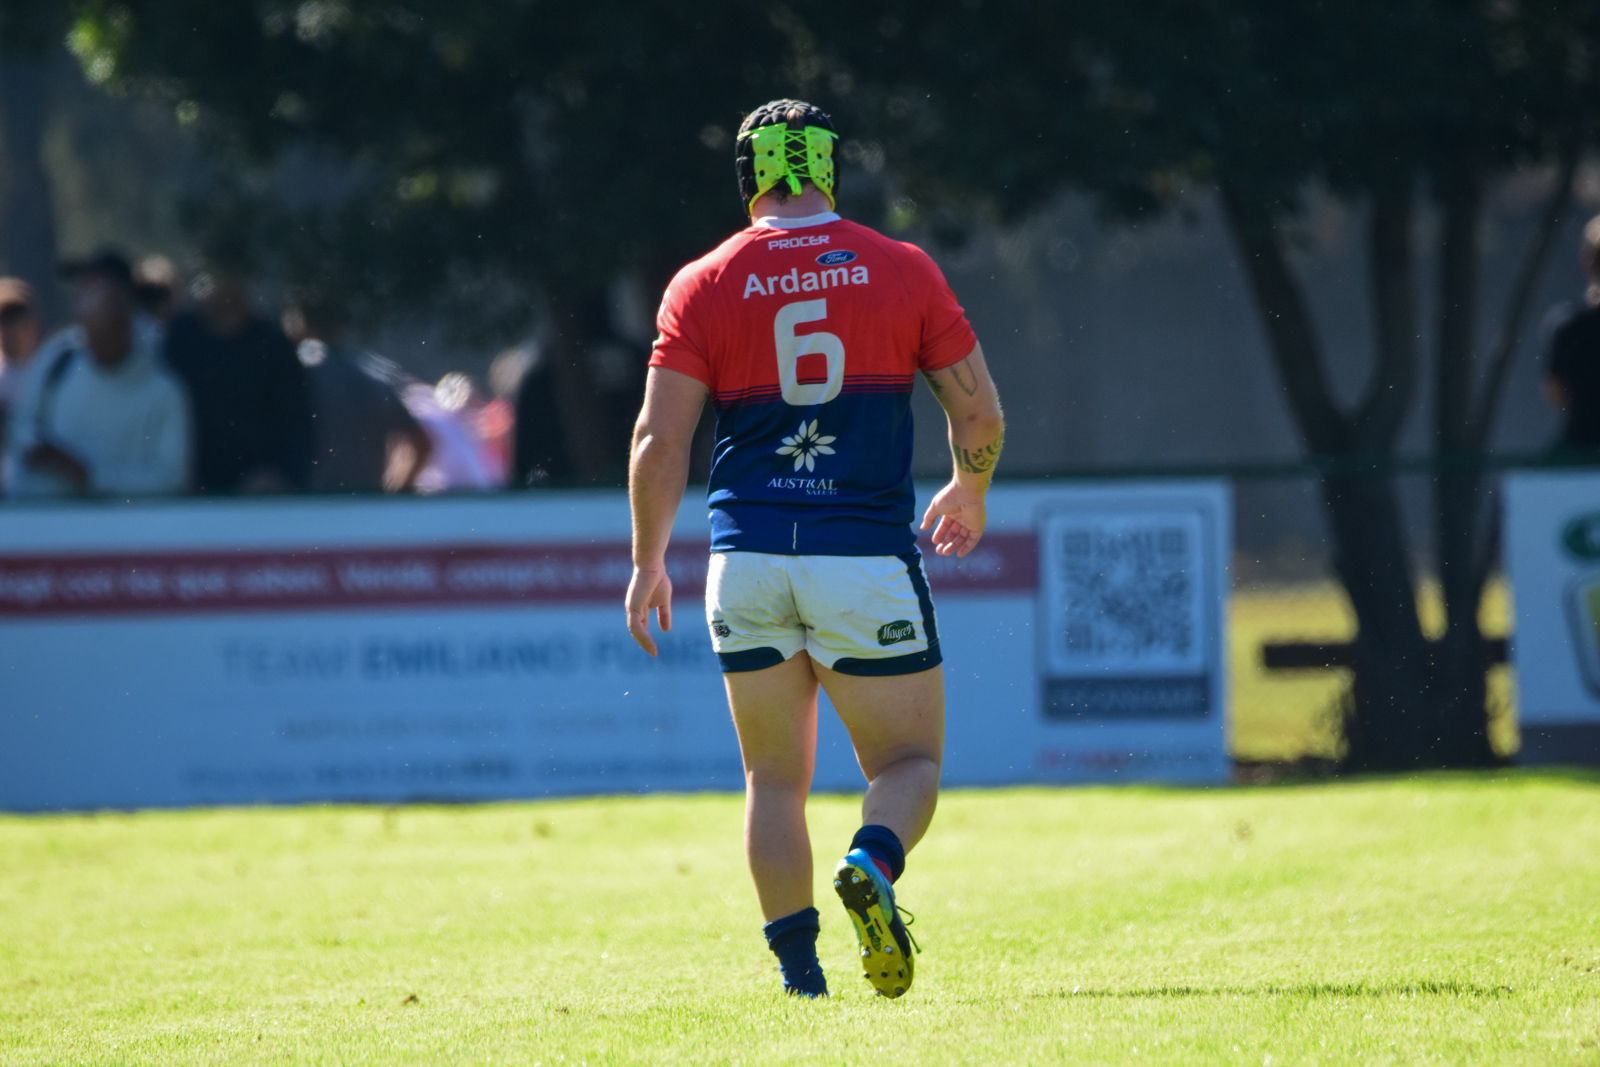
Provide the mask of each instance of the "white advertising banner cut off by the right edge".
{"label": "white advertising banner cut off by the right edge", "polygon": [[1522,763],[1600,763],[1600,470],[1506,478]]}

